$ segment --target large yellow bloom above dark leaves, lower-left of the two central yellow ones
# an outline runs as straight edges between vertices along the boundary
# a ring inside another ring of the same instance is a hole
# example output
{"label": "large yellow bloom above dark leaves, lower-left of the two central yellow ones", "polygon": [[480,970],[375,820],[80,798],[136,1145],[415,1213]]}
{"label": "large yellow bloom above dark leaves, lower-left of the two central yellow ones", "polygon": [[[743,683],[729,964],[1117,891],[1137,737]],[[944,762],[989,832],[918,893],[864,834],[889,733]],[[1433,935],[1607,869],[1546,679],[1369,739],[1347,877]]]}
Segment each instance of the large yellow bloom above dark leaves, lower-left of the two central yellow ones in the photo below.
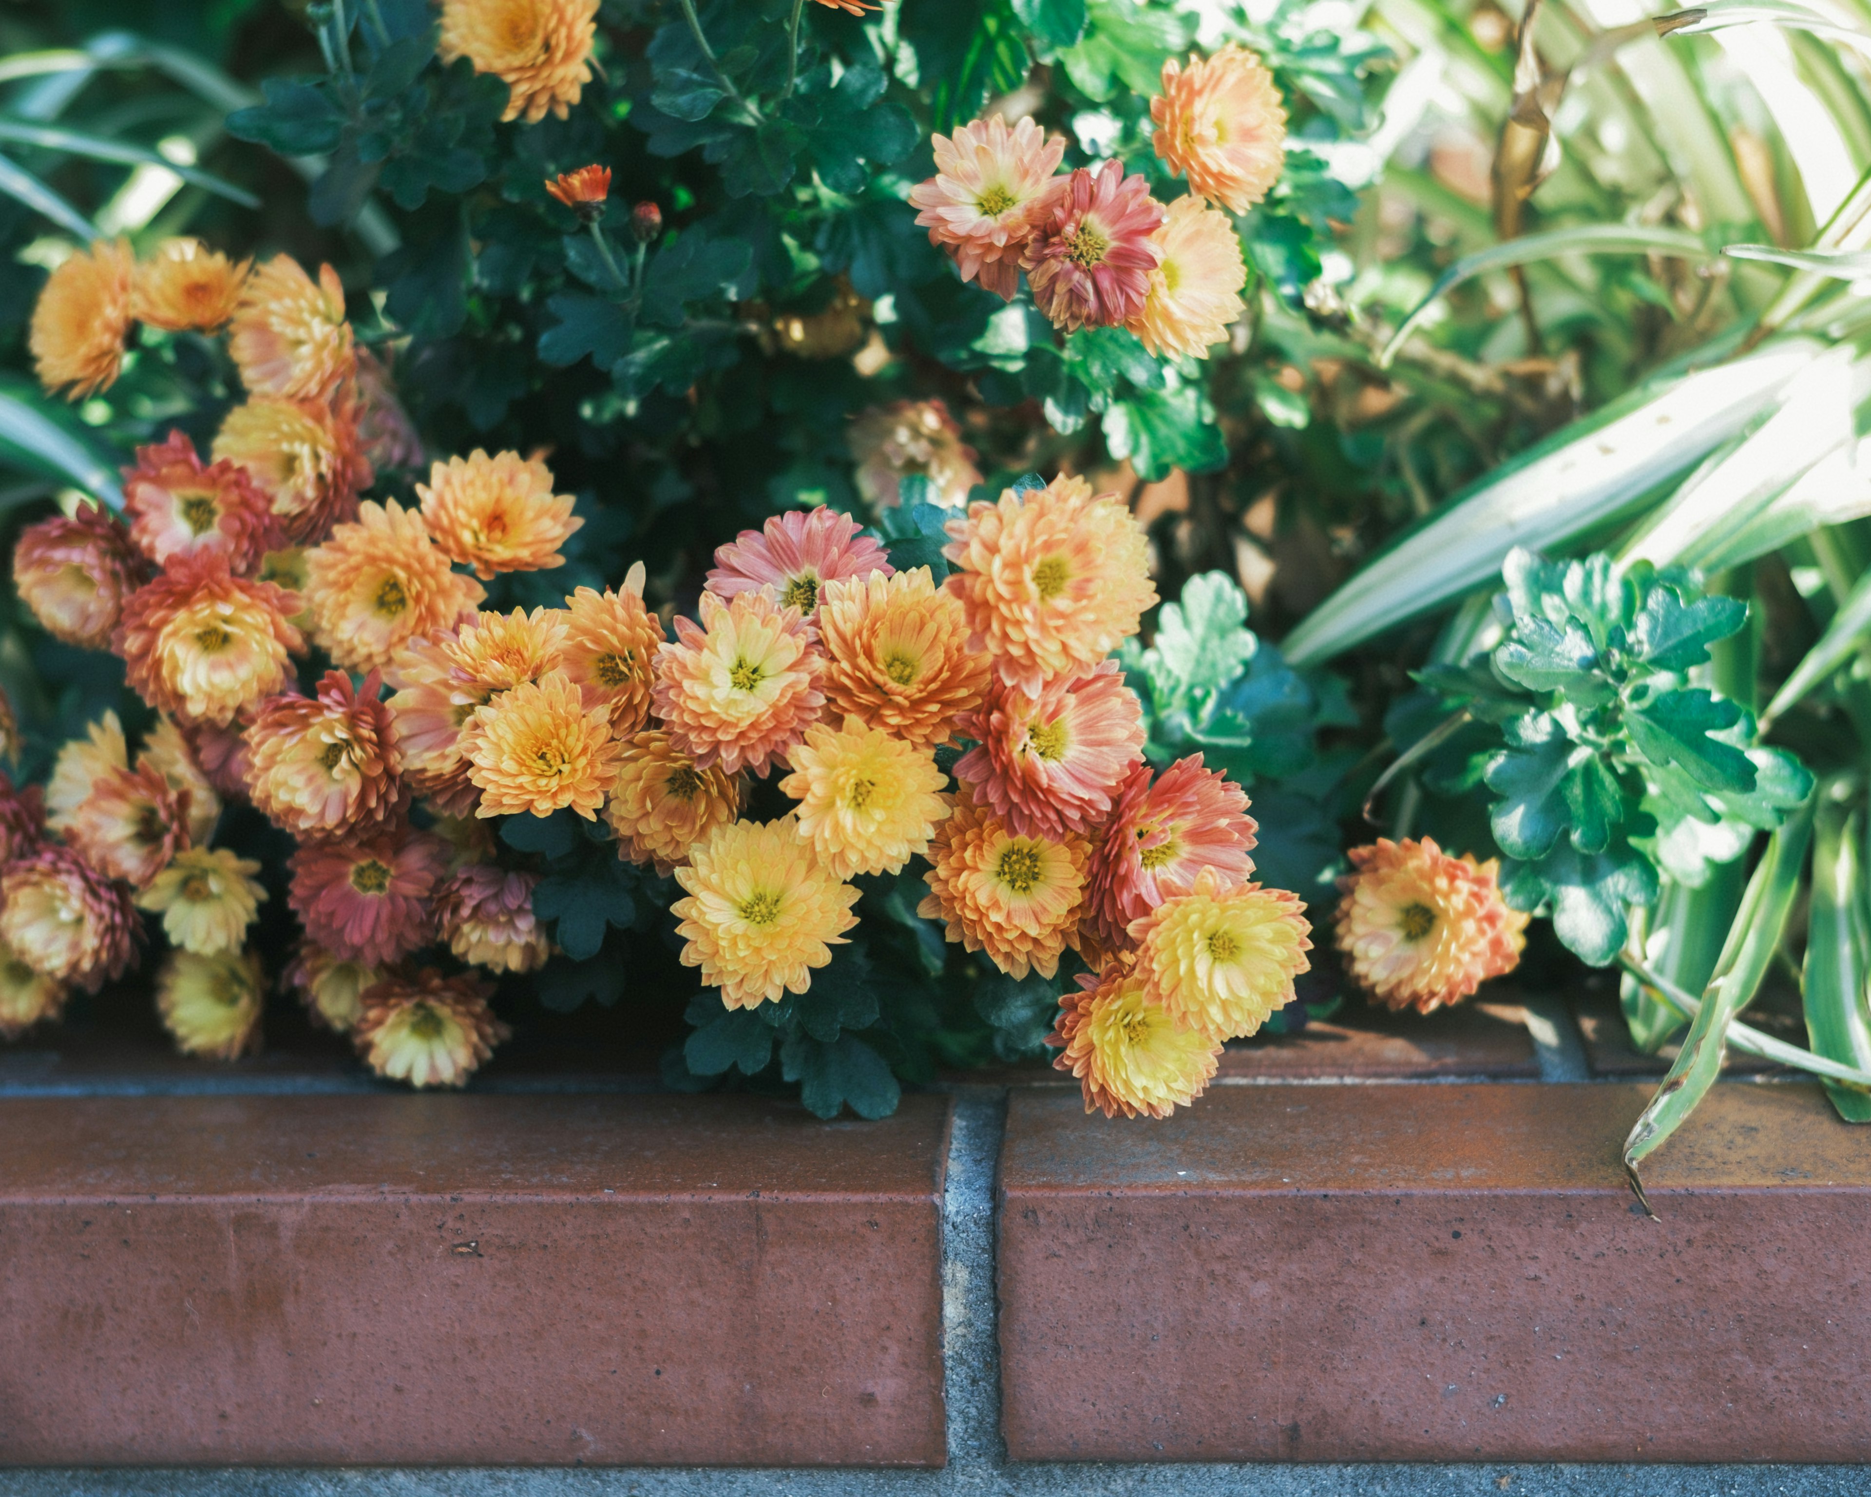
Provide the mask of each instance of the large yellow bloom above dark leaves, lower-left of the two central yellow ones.
{"label": "large yellow bloom above dark leaves, lower-left of the two central yellow ones", "polygon": [[689,891],[670,906],[687,939],[683,966],[702,967],[730,1009],[806,992],[812,967],[857,924],[857,889],[812,857],[793,816],[718,827],[675,879]]}

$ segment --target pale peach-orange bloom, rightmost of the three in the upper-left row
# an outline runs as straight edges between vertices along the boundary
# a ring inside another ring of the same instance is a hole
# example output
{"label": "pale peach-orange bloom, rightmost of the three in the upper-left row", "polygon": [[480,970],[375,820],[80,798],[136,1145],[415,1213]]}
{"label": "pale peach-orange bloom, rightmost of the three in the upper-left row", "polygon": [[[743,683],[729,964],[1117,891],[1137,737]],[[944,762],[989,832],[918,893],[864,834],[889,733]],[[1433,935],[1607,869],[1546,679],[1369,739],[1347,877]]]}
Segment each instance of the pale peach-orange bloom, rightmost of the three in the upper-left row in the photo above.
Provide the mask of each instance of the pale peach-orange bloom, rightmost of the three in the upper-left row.
{"label": "pale peach-orange bloom, rightmost of the three in the upper-left row", "polygon": [[357,367],[339,273],[320,266],[312,281],[290,254],[275,254],[247,277],[228,354],[249,395],[327,399]]}

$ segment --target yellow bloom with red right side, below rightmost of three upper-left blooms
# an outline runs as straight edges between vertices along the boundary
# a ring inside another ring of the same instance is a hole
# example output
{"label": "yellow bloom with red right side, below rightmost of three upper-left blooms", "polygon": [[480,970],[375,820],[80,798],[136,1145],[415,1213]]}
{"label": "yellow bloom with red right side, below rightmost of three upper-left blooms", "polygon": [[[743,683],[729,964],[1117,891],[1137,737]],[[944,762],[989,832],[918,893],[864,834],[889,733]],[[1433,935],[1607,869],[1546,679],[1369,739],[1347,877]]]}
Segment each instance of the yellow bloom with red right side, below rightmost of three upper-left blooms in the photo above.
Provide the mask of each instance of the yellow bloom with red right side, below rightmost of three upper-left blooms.
{"label": "yellow bloom with red right side, below rightmost of three upper-left blooms", "polygon": [[268,496],[296,546],[322,541],[357,513],[357,494],[374,473],[357,434],[355,402],[256,395],[234,406],[215,436],[215,457],[238,462]]}

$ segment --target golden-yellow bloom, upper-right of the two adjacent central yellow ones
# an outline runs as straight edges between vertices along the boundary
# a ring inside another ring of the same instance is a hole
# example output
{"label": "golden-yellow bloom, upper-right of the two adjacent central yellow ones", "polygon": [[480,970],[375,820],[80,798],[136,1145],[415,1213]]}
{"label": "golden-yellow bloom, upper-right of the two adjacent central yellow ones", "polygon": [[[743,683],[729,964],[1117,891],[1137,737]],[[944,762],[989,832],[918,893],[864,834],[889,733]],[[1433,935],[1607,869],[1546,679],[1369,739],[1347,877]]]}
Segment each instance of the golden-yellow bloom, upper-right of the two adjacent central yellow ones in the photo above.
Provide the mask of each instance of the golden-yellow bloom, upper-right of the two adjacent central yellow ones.
{"label": "golden-yellow bloom, upper-right of the two adjacent central yellow ones", "polygon": [[790,762],[780,790],[799,801],[799,835],[833,878],[902,872],[949,816],[936,754],[855,717],[808,728]]}

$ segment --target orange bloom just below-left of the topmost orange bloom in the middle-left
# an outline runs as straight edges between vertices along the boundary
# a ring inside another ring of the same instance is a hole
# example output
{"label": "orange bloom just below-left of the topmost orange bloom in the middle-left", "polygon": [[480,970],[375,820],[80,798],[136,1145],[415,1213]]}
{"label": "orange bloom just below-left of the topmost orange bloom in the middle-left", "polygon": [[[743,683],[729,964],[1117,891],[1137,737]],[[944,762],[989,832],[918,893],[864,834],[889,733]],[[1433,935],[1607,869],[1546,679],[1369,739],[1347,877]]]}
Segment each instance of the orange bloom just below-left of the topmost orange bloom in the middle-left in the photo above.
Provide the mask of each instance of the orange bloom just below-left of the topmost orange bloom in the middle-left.
{"label": "orange bloom just below-left of the topmost orange bloom in the middle-left", "polygon": [[382,670],[410,640],[455,625],[485,599],[449,569],[423,516],[367,500],[305,558],[312,638],[348,670]]}

